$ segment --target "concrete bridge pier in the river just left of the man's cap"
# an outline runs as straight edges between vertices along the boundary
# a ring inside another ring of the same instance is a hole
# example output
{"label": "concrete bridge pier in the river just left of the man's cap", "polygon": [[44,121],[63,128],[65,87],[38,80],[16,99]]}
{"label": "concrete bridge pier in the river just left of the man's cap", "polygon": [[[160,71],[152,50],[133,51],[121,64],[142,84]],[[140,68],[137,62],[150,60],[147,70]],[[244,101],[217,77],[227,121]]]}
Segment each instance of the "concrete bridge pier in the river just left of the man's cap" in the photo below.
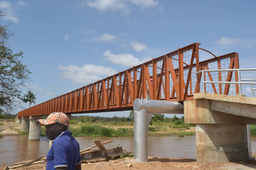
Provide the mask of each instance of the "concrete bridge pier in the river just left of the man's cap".
{"label": "concrete bridge pier in the river just left of the man's cap", "polygon": [[37,123],[37,120],[42,119],[42,116],[30,116],[29,119],[30,119],[30,124],[29,124],[28,141],[39,141],[41,126]]}

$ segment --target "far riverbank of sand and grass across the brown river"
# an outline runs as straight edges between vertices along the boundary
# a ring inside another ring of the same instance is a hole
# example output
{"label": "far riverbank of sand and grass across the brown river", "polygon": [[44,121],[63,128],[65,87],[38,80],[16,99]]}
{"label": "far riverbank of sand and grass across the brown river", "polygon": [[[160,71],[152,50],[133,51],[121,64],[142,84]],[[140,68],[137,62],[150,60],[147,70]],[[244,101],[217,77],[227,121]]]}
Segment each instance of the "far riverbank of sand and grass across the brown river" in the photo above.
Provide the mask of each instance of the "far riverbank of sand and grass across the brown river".
{"label": "far riverbank of sand and grass across the brown river", "polygon": [[[133,125],[111,125],[111,124],[70,124],[70,131],[72,136],[133,136]],[[41,126],[41,136],[44,134],[45,128]],[[0,136],[16,136],[16,135],[28,135],[28,132],[21,131],[21,124],[13,123],[13,121],[6,122],[0,121]],[[148,135],[178,135],[179,137],[195,135],[195,127],[184,128],[159,128],[157,126],[151,126],[148,131]]]}

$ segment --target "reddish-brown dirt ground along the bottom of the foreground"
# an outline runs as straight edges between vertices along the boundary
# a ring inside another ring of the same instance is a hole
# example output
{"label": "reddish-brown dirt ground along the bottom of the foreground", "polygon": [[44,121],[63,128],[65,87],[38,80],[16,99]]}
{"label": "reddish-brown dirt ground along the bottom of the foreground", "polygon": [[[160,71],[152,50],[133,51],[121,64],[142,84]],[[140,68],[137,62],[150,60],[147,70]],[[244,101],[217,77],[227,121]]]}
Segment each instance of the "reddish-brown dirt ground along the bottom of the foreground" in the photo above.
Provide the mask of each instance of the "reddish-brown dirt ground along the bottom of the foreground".
{"label": "reddish-brown dirt ground along the bottom of the foreground", "polygon": [[[130,166],[128,166],[131,164]],[[35,164],[28,167],[17,168],[19,170],[45,170],[45,164]],[[82,170],[255,170],[256,161],[248,162],[224,162],[224,163],[209,163],[204,166],[198,166],[195,159],[168,159],[162,157],[148,157],[148,162],[135,162],[133,158],[97,160],[93,162],[82,162]]]}

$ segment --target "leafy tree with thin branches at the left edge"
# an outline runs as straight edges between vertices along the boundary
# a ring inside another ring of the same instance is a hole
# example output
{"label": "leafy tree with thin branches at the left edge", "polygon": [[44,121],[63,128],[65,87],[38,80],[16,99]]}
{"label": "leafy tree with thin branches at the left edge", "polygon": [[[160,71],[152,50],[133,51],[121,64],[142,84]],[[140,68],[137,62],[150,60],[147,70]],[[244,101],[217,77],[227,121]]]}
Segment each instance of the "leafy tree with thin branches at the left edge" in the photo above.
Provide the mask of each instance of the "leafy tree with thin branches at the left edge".
{"label": "leafy tree with thin branches at the left edge", "polygon": [[[6,13],[0,10],[0,17]],[[6,41],[13,33],[10,32],[10,24],[0,22],[0,113],[10,115],[16,107],[23,108],[21,103],[22,89],[27,87],[31,72],[27,65],[22,63],[23,53],[13,54]]]}

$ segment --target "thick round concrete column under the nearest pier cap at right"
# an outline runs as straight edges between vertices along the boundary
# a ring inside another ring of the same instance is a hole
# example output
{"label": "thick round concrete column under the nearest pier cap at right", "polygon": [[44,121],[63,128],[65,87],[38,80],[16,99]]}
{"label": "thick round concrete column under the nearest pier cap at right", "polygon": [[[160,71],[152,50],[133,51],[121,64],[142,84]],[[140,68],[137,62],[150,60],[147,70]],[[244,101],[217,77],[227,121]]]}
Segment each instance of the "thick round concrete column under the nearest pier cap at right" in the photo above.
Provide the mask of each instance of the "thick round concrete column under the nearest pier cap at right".
{"label": "thick round concrete column under the nearest pier cap at right", "polygon": [[196,124],[197,165],[248,160],[246,124]]}

